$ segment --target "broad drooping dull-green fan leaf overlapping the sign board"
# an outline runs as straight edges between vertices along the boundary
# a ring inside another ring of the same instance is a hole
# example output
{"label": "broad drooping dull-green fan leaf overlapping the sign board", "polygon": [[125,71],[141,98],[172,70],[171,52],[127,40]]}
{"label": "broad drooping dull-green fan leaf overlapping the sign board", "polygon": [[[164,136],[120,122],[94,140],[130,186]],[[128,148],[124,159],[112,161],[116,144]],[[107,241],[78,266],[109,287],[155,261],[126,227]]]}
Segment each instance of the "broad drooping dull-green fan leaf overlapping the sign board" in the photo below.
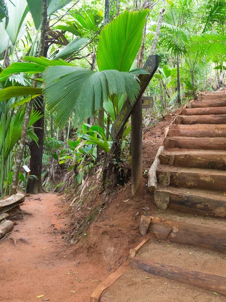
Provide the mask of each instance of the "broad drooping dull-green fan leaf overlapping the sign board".
{"label": "broad drooping dull-green fan leaf overlapping the sign board", "polygon": [[134,75],[118,70],[93,71],[75,66],[50,66],[44,74],[43,91],[62,127],[75,109],[75,125],[94,115],[108,95],[128,95],[133,102],[140,87]]}

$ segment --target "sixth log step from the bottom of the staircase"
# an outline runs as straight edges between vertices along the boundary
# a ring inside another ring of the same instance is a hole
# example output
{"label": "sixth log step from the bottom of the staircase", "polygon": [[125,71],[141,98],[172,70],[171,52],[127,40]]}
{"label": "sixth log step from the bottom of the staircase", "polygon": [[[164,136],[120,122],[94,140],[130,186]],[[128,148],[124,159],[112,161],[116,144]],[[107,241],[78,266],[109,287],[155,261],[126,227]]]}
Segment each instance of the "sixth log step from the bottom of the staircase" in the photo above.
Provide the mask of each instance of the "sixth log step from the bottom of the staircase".
{"label": "sixth log step from the bottom of the staircase", "polygon": [[165,148],[225,150],[226,137],[166,137],[164,146]]}

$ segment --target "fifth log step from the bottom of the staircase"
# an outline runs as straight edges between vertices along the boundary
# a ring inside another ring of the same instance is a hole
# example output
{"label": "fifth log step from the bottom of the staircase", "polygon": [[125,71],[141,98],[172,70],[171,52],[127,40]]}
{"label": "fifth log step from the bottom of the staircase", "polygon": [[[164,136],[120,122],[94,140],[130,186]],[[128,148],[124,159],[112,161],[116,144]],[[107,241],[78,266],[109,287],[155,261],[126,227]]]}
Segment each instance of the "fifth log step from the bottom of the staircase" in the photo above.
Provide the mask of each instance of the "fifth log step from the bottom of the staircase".
{"label": "fifth log step from the bottom of the staircase", "polygon": [[174,167],[226,170],[226,154],[161,154],[160,161]]}

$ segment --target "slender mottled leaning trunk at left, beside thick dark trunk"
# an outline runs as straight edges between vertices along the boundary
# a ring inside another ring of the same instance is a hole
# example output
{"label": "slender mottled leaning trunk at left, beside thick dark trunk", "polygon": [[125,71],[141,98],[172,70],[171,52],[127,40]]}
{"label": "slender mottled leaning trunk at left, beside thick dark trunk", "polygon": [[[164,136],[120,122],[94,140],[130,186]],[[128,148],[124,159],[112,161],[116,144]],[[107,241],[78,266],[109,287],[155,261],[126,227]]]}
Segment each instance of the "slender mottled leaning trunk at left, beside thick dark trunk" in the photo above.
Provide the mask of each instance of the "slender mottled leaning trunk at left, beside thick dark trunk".
{"label": "slender mottled leaning trunk at left, beside thick dark trunk", "polygon": [[[42,11],[43,18],[42,18],[42,25],[41,25],[41,37],[40,37],[38,56],[43,55],[44,48],[45,48],[46,25],[47,25],[47,17],[48,17],[47,0],[42,0],[42,7],[43,7],[43,11]],[[37,74],[34,76],[34,78],[35,79],[37,78]],[[36,87],[36,86],[37,86],[36,81],[33,81],[32,87]],[[32,101],[27,103],[26,110],[25,110],[22,134],[21,134],[20,143],[18,146],[17,156],[15,159],[14,175],[12,178],[10,195],[16,194],[16,191],[17,191],[18,177],[19,177],[21,163],[22,163],[22,159],[23,159],[23,155],[24,155],[24,148],[25,148],[26,136],[27,136],[27,132],[28,132],[28,123],[29,123],[31,111],[32,111],[32,105],[33,105]],[[43,120],[43,127],[44,127],[44,120]]]}

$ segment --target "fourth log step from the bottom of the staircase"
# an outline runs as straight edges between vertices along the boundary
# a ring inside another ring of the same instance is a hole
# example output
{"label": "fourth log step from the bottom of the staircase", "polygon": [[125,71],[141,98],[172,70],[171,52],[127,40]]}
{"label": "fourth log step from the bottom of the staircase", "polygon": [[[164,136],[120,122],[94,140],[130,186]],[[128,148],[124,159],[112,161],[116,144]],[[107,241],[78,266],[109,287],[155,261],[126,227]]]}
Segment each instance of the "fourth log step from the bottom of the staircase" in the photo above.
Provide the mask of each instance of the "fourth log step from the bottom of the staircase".
{"label": "fourth log step from the bottom of the staircase", "polygon": [[159,166],[158,183],[165,186],[226,191],[226,173],[219,170]]}

